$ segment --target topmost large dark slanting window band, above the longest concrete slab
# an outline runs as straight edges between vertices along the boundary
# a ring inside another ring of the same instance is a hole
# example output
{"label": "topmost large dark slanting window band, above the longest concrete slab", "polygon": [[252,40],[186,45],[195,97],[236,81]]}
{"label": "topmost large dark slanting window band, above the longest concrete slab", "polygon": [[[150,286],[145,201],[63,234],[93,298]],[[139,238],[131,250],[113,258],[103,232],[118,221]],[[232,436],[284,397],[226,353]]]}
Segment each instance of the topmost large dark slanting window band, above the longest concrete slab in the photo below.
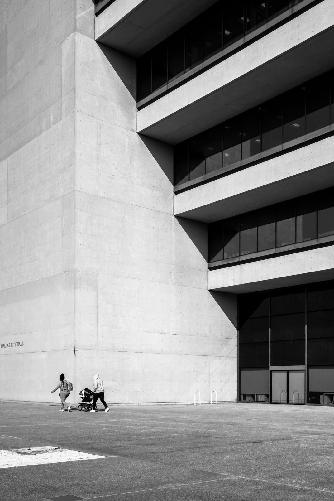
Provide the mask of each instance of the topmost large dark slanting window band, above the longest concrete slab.
{"label": "topmost large dark slanting window band, above the longest concrete slab", "polygon": [[298,0],[217,2],[138,59],[137,101],[298,3]]}

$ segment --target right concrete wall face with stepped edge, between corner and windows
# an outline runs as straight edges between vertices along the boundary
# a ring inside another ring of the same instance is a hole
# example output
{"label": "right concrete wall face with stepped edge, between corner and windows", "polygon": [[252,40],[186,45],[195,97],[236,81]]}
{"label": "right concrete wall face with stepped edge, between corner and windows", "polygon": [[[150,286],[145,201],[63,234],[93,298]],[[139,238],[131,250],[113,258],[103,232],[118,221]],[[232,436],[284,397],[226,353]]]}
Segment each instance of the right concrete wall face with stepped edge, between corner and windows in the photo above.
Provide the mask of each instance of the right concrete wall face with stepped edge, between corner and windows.
{"label": "right concrete wall face with stepped edge, between corner and windows", "polygon": [[136,132],[135,61],[76,34],[77,379],[108,402],[236,398],[236,297],[173,215],[172,147]]}

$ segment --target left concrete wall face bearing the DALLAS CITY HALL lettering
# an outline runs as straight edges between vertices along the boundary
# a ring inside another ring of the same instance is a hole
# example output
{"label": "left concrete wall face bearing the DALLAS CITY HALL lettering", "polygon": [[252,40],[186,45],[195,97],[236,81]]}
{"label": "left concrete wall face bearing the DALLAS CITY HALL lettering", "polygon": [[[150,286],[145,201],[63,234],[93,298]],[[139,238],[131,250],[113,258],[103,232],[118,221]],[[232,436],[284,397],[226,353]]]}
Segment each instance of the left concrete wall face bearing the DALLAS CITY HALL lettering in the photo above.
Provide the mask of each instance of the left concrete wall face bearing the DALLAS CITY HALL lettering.
{"label": "left concrete wall face bearing the DALLAS CITY HALL lettering", "polygon": [[76,15],[74,0],[0,3],[2,399],[57,400],[73,377]]}

